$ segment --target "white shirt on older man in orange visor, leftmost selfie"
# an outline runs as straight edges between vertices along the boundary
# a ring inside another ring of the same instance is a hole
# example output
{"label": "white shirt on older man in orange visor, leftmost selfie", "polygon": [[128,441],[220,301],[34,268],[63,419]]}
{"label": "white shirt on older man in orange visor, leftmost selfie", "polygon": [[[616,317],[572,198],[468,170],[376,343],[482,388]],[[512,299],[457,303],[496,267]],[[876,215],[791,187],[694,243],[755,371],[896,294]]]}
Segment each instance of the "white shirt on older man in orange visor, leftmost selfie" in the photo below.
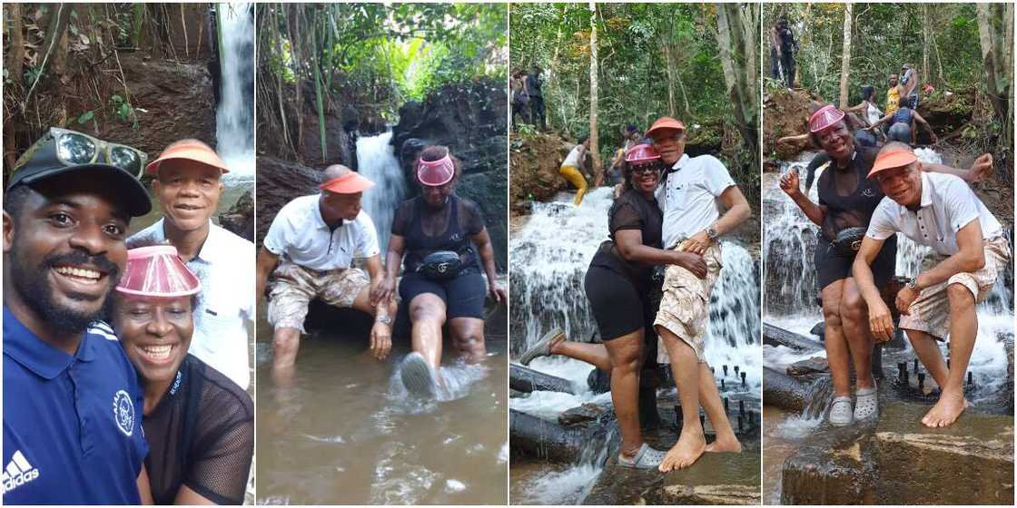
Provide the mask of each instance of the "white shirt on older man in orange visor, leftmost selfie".
{"label": "white shirt on older man in orange visor, leftmost selfie", "polygon": [[[164,220],[134,234],[127,245],[165,242]],[[254,244],[210,220],[208,238],[186,263],[201,280],[188,352],[245,390],[251,379],[247,321],[254,320],[255,258]]]}

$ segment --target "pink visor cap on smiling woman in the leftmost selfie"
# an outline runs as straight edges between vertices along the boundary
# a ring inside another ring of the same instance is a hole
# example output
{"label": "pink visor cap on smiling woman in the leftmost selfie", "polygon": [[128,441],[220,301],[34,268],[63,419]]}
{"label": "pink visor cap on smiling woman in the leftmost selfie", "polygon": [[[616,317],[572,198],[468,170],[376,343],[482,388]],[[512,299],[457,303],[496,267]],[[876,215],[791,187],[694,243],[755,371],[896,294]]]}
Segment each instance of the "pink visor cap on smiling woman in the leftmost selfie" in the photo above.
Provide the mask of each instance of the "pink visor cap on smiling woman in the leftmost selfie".
{"label": "pink visor cap on smiling woman in the leftmost selfie", "polygon": [[189,297],[201,291],[201,282],[180,260],[176,247],[156,245],[127,251],[127,269],[117,291],[136,297]]}

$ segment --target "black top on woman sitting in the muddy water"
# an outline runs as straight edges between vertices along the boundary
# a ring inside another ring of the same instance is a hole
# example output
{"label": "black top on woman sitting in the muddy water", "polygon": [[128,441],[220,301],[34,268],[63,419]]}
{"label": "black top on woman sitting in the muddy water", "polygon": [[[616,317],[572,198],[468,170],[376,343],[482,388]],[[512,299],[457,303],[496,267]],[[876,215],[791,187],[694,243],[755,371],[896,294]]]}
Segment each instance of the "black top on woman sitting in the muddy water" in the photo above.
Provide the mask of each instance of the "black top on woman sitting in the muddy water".
{"label": "black top on woman sitting in the muddy water", "polygon": [[417,271],[424,257],[436,251],[458,252],[463,259],[461,273],[479,273],[480,256],[470,237],[484,231],[480,208],[455,193],[441,208],[433,208],[423,196],[407,199],[396,210],[392,234],[406,239],[403,265],[407,273]]}

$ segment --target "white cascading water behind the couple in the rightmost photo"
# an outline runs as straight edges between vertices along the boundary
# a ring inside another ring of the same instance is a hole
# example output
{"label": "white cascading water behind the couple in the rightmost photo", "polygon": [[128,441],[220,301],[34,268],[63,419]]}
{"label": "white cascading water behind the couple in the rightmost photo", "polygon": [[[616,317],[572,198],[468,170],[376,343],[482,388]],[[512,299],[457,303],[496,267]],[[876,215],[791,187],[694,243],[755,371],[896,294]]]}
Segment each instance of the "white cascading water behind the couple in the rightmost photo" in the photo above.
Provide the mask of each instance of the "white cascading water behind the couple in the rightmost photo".
{"label": "white cascading water behind the couple in the rightmost photo", "polygon": [[[924,163],[941,163],[942,157],[931,148],[917,148],[915,155]],[[815,153],[803,153],[795,161],[781,165],[781,174],[798,170],[804,185],[804,169]],[[818,202],[816,175],[810,198]],[[804,213],[787,197],[777,185],[777,175],[764,175],[763,209],[766,228],[763,235],[764,292],[768,321],[797,333],[810,334],[814,324],[822,321],[822,312],[816,305],[816,268],[813,252],[816,247],[816,232],[819,228],[810,221]],[[1010,233],[1008,233],[1009,235]],[[932,249],[911,242],[903,235],[897,235],[897,274],[914,276],[918,273],[922,260]],[[1011,265],[1012,266],[1012,265]],[[1008,268],[1009,269],[1009,268]],[[998,333],[1013,331],[1013,291],[1005,279],[1005,272],[999,278],[989,298],[978,305],[978,338],[968,370],[973,373],[975,384],[984,389],[980,393],[995,391],[1006,382],[1007,360],[1003,342]],[[945,350],[945,344],[943,344]],[[910,348],[910,344],[907,344]],[[775,366],[776,358],[784,355],[775,348],[765,347],[764,357],[768,366]],[[775,358],[776,357],[776,358]],[[800,360],[800,359],[796,359]]]}

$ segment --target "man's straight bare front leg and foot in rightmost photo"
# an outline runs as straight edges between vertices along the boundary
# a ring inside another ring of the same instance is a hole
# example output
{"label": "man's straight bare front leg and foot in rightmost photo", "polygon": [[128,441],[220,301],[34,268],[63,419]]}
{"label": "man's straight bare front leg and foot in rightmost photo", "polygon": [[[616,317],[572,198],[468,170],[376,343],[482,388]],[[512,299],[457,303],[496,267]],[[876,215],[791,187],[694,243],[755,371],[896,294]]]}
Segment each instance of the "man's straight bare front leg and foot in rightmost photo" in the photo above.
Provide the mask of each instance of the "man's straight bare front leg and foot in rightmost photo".
{"label": "man's straight bare front leg and foot in rightmost photo", "polygon": [[945,382],[940,384],[940,399],[921,419],[929,427],[947,427],[964,411],[967,405],[964,376],[978,335],[978,315],[971,291],[962,283],[951,283],[947,287],[947,298],[950,299],[950,369]]}

